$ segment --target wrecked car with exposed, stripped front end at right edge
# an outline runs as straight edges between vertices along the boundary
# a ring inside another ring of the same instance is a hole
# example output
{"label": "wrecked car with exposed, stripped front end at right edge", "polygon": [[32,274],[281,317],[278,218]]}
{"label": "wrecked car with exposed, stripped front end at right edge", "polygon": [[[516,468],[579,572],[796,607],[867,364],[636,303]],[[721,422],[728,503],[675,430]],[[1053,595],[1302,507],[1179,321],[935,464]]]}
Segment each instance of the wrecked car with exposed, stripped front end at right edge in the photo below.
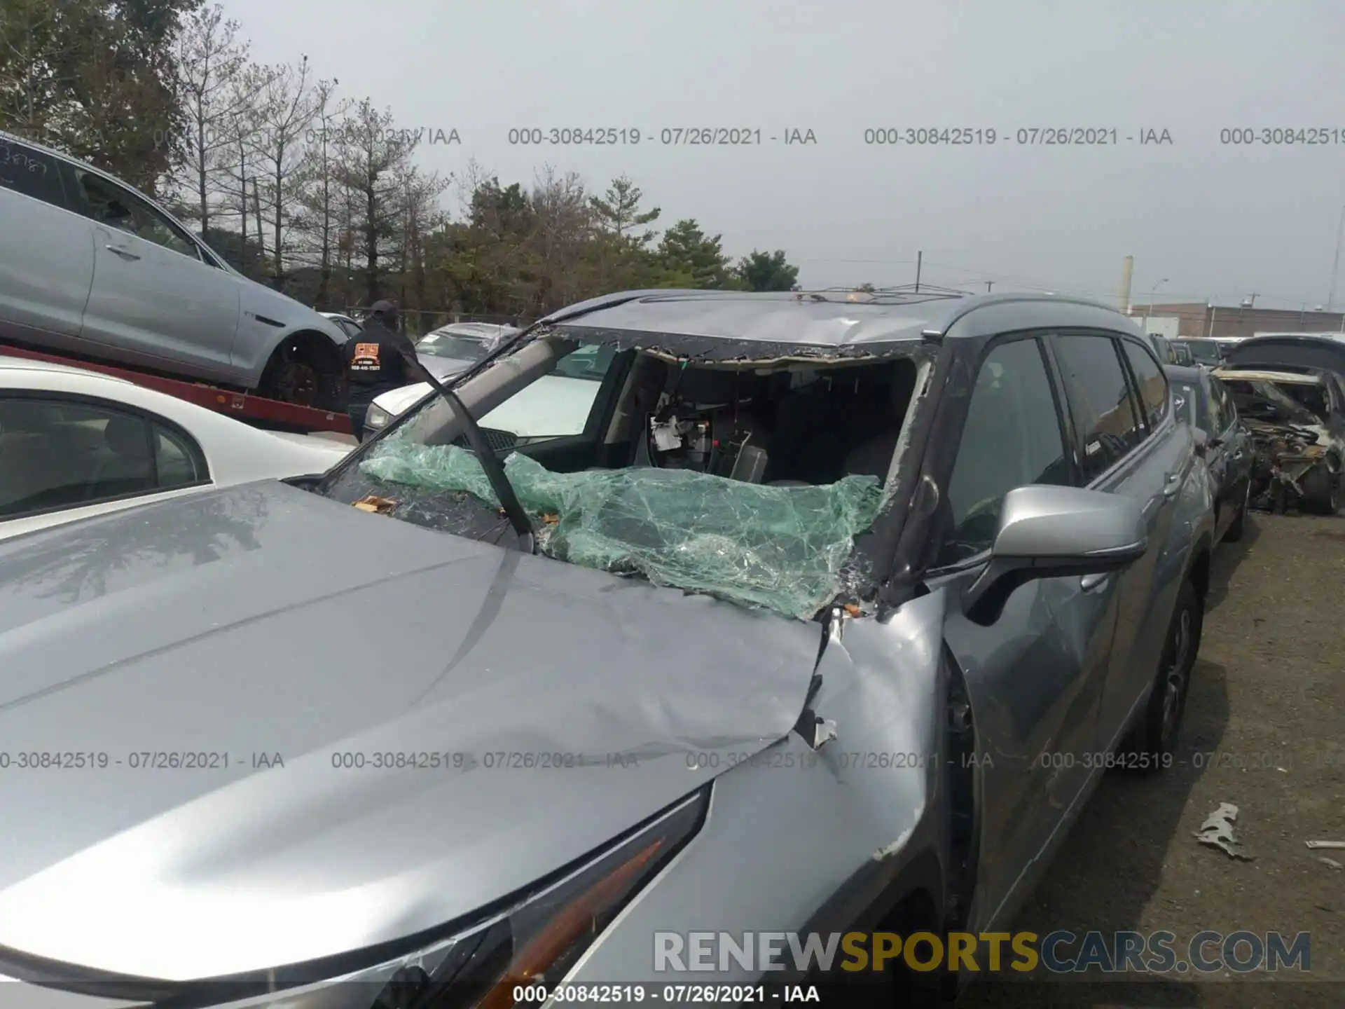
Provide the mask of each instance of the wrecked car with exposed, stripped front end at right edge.
{"label": "wrecked car with exposed, stripped front end at right edge", "polygon": [[1220,369],[1252,443],[1248,502],[1283,514],[1340,510],[1345,425],[1340,379],[1321,369],[1298,373]]}

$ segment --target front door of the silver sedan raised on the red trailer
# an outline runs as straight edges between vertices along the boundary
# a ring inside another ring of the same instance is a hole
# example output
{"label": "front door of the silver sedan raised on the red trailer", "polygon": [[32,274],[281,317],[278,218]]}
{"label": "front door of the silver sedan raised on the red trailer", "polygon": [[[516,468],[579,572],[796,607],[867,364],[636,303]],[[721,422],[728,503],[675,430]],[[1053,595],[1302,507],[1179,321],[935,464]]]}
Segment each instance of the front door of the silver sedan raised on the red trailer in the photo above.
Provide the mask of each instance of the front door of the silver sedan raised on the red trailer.
{"label": "front door of the silver sedan raised on the red trailer", "polygon": [[81,336],[165,371],[233,377],[238,284],[156,207],[70,167],[77,209],[94,222],[94,274]]}

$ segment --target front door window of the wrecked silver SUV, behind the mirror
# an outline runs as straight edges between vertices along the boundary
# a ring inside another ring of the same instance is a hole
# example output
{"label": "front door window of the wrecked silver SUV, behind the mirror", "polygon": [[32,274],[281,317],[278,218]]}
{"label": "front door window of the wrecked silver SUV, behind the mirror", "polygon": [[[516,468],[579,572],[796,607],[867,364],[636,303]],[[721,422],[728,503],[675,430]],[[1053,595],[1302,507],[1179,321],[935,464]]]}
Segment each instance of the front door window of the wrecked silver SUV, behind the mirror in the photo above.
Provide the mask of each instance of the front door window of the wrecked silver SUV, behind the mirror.
{"label": "front door window of the wrecked silver SUV, behind the mirror", "polygon": [[942,564],[990,549],[1005,495],[1032,483],[1068,486],[1056,393],[1036,339],[994,347],[981,365],[948,480],[952,535]]}

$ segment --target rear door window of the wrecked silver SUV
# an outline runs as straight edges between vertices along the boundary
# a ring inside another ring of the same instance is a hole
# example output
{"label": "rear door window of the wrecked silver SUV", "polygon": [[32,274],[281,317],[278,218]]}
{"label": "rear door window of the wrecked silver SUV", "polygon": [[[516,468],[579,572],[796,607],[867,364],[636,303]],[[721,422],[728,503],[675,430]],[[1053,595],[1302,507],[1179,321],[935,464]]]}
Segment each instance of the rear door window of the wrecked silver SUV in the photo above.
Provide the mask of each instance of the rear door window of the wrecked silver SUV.
{"label": "rear door window of the wrecked silver SUV", "polygon": [[1079,432],[1080,470],[1091,483],[1145,439],[1145,431],[1110,336],[1056,338],[1056,361],[1065,379]]}

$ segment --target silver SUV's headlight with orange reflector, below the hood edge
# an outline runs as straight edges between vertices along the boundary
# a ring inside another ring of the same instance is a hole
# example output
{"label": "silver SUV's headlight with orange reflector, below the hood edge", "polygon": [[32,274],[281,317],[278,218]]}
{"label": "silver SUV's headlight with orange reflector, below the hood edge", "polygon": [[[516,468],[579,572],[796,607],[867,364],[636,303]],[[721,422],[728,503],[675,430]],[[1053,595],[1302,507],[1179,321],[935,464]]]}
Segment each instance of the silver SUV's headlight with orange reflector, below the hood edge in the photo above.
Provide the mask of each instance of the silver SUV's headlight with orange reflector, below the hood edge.
{"label": "silver SUV's headlight with orange reflector, below the hood edge", "polygon": [[[359,966],[354,957],[338,957],[186,985],[159,982],[159,992],[143,994],[145,1001],[168,998],[214,1009],[539,1005],[522,1001],[525,989],[554,986],[565,978],[631,897],[695,835],[707,805],[709,790],[701,790],[596,858],[561,869],[487,916],[452,931],[422,932],[366,951],[360,959],[373,961],[371,966]],[[117,997],[140,1001],[129,989]]]}

